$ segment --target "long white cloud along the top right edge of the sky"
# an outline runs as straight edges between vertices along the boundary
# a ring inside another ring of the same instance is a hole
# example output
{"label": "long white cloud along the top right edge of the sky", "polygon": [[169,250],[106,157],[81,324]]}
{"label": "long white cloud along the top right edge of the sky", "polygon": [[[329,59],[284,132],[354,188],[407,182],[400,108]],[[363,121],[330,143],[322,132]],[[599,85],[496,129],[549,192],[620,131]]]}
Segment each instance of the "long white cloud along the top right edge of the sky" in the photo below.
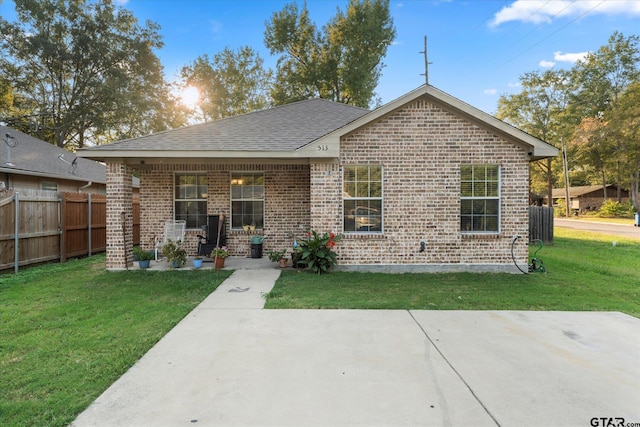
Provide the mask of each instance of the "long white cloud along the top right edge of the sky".
{"label": "long white cloud along the top right edge of the sky", "polygon": [[489,25],[497,27],[509,21],[550,23],[556,18],[577,17],[586,12],[590,15],[640,16],[640,2],[637,0],[516,0],[496,13]]}

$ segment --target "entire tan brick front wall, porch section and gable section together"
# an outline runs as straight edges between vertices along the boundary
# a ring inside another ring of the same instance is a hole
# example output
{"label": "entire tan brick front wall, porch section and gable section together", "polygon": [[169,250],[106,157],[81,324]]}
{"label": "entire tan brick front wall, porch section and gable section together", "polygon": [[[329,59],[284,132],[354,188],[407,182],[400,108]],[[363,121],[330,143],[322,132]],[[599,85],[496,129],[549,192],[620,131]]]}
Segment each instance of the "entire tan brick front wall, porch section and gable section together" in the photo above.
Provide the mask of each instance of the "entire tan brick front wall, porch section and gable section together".
{"label": "entire tan brick front wall, porch section and gable section together", "polygon": [[[496,235],[460,232],[460,165],[500,165],[501,227]],[[301,164],[146,165],[141,172],[141,240],[153,247],[163,224],[173,218],[173,173],[208,176],[208,213],[229,218],[230,173],[265,173],[264,251],[290,248],[291,235],[312,227],[342,231],[342,165],[382,165],[384,233],[346,235],[337,245],[341,265],[502,265],[513,267],[511,241],[518,263],[528,249],[528,158],[526,150],[443,110],[416,100],[343,137],[338,161]],[[196,234],[188,230],[190,255]],[[232,255],[248,256],[249,236],[231,230]],[[420,252],[420,241],[426,250]]]}

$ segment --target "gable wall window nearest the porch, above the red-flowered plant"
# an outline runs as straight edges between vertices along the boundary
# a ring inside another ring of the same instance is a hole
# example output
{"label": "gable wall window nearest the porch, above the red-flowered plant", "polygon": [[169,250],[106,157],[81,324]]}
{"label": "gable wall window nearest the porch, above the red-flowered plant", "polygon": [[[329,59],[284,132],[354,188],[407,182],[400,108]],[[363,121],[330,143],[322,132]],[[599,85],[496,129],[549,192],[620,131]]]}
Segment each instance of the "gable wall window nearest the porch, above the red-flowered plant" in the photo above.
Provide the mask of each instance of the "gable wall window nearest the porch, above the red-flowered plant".
{"label": "gable wall window nearest the porch, above the red-flowered plant", "polygon": [[382,166],[345,166],[342,182],[344,231],[382,233]]}

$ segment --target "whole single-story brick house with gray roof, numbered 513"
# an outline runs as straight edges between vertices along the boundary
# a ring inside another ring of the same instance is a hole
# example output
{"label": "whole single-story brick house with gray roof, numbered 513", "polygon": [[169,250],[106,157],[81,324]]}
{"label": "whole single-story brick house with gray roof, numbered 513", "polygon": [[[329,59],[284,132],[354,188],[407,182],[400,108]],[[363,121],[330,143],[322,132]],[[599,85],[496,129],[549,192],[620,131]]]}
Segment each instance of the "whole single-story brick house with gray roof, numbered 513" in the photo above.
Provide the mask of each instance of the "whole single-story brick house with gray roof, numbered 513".
{"label": "whole single-story brick house with gray roof, numbered 513", "polygon": [[528,263],[526,238],[511,249],[528,234],[529,162],[557,153],[421,86],[373,111],[311,99],[78,155],[107,165],[108,269],[131,259],[135,169],[148,249],[166,220],[185,219],[193,254],[207,215],[223,214],[237,256],[253,223],[265,249],[291,248],[309,228],[343,234],[340,268],[517,271],[513,257]]}

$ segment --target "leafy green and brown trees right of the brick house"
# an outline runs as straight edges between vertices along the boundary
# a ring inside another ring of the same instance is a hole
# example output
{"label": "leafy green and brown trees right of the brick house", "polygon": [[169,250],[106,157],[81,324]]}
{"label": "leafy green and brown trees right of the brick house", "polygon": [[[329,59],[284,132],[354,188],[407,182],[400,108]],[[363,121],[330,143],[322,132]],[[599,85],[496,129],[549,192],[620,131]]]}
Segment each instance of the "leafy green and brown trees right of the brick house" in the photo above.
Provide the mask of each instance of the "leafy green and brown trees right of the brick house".
{"label": "leafy green and brown trees right of the brick house", "polygon": [[[556,147],[567,145],[572,185],[618,184],[638,208],[640,50],[638,36],[614,32],[569,71],[524,74],[522,91],[502,96],[497,116]],[[534,162],[532,191],[564,187],[562,162]]]}

